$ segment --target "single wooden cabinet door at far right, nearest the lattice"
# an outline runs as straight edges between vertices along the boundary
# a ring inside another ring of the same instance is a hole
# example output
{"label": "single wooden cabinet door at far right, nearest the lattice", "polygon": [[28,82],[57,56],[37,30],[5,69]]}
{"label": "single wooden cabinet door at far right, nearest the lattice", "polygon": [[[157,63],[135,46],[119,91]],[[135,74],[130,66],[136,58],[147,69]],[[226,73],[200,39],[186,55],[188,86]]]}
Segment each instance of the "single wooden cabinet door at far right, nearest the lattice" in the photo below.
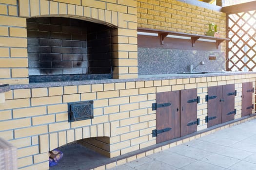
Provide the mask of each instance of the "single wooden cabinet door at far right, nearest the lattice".
{"label": "single wooden cabinet door at far right, nearest the lattice", "polygon": [[252,114],[253,91],[253,82],[242,84],[242,117]]}

